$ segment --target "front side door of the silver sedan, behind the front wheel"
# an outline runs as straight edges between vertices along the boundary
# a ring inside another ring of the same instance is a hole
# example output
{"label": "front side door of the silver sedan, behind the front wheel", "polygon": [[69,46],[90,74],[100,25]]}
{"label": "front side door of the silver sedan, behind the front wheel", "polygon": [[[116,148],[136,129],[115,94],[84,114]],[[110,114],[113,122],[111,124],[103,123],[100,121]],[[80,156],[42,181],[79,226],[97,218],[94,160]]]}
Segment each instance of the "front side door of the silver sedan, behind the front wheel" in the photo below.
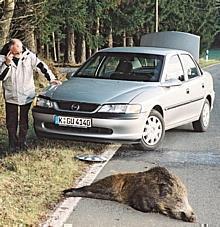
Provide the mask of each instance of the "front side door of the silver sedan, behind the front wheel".
{"label": "front side door of the silver sedan, behind the front wheel", "polygon": [[166,129],[181,125],[187,119],[188,85],[184,75],[183,66],[179,56],[171,56],[165,66],[166,79],[178,79],[182,82],[180,86],[164,88],[162,103],[164,106],[164,120]]}

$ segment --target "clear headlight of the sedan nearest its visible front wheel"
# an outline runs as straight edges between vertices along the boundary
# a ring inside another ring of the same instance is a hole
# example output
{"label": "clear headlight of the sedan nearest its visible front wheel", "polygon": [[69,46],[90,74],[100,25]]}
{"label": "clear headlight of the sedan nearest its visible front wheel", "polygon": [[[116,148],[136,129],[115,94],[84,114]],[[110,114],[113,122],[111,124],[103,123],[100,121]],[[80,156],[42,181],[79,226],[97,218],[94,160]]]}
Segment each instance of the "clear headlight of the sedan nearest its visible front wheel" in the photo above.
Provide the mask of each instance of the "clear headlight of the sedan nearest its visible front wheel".
{"label": "clear headlight of the sedan nearest its visible front wheel", "polygon": [[104,113],[140,113],[139,104],[106,104],[101,107],[99,112]]}

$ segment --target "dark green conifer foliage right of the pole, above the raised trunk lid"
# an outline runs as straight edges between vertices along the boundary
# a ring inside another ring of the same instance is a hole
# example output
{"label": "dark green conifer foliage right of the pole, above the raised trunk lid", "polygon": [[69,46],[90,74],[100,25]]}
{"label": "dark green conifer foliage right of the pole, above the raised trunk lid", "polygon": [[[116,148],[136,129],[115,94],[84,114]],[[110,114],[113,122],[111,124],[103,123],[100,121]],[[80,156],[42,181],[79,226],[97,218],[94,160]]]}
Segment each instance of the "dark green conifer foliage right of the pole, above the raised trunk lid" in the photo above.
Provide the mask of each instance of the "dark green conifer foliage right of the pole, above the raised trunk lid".
{"label": "dark green conifer foliage right of the pole, above the raised trunk lid", "polygon": [[182,31],[201,36],[201,52],[209,48],[219,32],[216,0],[160,2],[160,31]]}

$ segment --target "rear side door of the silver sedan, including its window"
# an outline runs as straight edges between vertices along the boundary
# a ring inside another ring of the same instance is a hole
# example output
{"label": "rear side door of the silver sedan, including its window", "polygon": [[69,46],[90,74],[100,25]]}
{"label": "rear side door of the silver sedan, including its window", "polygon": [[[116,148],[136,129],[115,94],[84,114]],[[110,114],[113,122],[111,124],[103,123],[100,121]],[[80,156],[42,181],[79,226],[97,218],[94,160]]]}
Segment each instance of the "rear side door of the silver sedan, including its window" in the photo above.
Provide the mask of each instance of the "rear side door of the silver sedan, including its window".
{"label": "rear side door of the silver sedan, including its window", "polygon": [[180,55],[184,72],[187,77],[187,118],[197,118],[202,110],[205,96],[205,82],[202,72],[193,58],[188,54]]}

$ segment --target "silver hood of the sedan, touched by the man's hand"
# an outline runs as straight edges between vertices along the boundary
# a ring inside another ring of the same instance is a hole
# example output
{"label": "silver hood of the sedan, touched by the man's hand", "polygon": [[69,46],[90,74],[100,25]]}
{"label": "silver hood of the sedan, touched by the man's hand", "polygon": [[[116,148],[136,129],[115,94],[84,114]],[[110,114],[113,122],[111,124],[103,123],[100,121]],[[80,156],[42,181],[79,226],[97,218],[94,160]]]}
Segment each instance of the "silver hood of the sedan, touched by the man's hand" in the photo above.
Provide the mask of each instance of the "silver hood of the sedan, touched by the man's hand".
{"label": "silver hood of the sedan, touched by the man's hand", "polygon": [[54,100],[75,102],[128,103],[146,88],[154,89],[153,83],[76,77],[49,88],[44,95]]}

